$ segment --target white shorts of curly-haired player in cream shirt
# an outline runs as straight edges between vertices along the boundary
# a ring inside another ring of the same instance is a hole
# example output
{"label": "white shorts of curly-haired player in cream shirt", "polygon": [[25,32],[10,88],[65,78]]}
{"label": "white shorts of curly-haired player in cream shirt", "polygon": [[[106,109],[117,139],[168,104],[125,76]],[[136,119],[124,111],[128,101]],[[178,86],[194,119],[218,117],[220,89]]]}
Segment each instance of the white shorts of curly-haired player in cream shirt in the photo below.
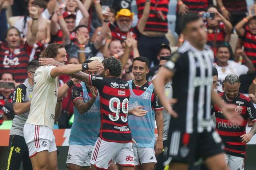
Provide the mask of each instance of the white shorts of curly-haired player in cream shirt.
{"label": "white shorts of curly-haired player in cream shirt", "polygon": [[55,137],[51,128],[25,123],[23,133],[29,157],[33,157],[44,150],[48,150],[48,152],[57,151]]}

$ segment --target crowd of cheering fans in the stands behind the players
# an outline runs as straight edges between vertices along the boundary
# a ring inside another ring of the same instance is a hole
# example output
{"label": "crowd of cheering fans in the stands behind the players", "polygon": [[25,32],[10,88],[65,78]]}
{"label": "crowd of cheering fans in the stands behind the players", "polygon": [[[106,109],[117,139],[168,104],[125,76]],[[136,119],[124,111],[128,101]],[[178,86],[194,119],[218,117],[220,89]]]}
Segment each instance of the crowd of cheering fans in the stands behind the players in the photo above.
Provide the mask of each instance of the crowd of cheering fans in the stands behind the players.
{"label": "crowd of cheering fans in the stands behind the players", "polygon": [[[226,75],[237,74],[240,92],[250,94],[255,102],[256,5],[249,2],[0,0],[0,129],[12,125],[13,90],[27,81],[28,63],[38,60],[49,44],[64,44],[66,64],[81,64],[93,56],[115,57],[121,61],[122,78],[126,80],[134,79],[132,60],[144,56],[149,60],[147,79],[151,81],[159,69],[160,57],[170,56],[186,41],[178,22],[188,12],[199,13],[205,21],[207,44],[214,51],[219,75],[216,89],[222,92]],[[177,7],[170,8],[174,5]],[[176,21],[168,20],[172,13]],[[60,86],[69,79],[68,75],[60,76]],[[70,128],[72,115],[70,89],[54,128]]]}

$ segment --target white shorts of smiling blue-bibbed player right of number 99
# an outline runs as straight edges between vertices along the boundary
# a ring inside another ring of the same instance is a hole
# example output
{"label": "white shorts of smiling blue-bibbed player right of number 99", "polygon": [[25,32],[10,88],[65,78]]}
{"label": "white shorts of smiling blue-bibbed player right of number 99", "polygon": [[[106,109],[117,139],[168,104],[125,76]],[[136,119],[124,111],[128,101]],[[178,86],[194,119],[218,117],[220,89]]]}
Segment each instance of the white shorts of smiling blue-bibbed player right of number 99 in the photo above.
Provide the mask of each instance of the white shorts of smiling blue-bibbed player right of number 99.
{"label": "white shorts of smiling blue-bibbed player right of number 99", "polygon": [[133,146],[134,165],[142,165],[143,163],[156,163],[154,148],[143,148]]}

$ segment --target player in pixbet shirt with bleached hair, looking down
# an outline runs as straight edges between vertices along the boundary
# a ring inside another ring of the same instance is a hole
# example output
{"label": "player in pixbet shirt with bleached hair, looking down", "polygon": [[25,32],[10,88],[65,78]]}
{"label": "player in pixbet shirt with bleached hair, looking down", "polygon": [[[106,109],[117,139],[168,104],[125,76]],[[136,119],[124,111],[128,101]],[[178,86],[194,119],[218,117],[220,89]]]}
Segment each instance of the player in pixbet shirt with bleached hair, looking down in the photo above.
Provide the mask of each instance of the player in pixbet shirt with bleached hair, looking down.
{"label": "player in pixbet shirt with bleached hair, looking down", "polygon": [[[239,77],[229,74],[224,80],[224,92],[219,96],[227,103],[237,105],[235,111],[243,117],[242,125],[228,121],[222,114],[222,110],[215,104],[212,113],[216,116],[216,130],[225,145],[225,159],[230,169],[244,169],[246,143],[256,133],[256,112],[252,100],[238,92],[240,86]],[[253,123],[250,132],[245,132],[247,120]]]}

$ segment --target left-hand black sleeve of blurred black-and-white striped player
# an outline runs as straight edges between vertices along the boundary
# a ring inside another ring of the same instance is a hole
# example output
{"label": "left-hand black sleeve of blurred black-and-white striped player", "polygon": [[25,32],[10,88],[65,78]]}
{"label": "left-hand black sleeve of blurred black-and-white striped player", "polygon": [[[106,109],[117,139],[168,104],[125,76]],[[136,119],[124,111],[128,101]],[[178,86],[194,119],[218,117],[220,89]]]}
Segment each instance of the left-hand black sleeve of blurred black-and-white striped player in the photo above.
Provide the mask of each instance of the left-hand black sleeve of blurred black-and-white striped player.
{"label": "left-hand black sleeve of blurred black-and-white striped player", "polygon": [[173,71],[175,74],[184,71],[184,68],[187,65],[187,61],[183,54],[175,52],[171,55],[170,60],[164,65],[165,68]]}

